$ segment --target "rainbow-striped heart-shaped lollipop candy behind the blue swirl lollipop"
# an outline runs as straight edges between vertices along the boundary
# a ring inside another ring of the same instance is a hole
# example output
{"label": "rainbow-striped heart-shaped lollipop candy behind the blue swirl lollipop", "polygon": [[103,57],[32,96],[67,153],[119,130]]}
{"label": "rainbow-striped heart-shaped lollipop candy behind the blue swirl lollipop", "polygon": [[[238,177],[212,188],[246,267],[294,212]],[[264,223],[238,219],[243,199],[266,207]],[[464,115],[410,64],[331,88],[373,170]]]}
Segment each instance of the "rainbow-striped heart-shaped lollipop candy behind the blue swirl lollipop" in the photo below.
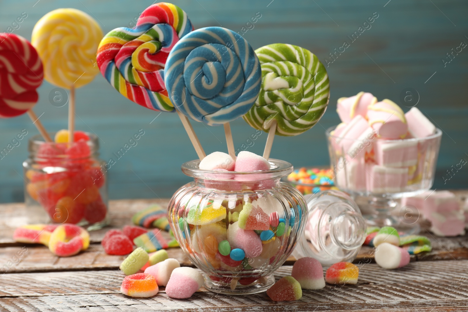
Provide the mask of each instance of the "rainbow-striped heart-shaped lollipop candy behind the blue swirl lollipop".
{"label": "rainbow-striped heart-shaped lollipop candy behind the blue swirl lollipop", "polygon": [[164,86],[164,67],[174,45],[192,30],[180,7],[156,3],[141,13],[134,28],[120,27],[104,36],[97,65],[129,100],[148,109],[175,111]]}

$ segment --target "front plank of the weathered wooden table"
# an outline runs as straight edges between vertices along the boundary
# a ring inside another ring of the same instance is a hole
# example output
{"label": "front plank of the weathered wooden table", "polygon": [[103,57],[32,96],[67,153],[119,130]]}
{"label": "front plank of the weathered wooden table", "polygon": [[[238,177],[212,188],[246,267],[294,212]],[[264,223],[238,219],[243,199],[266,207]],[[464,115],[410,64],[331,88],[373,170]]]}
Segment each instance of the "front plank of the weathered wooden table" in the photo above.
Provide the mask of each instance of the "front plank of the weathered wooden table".
{"label": "front plank of the weathered wooden table", "polygon": [[[265,293],[225,296],[204,289],[190,300],[171,299],[164,288],[151,298],[131,298],[119,291],[118,270],[5,274],[0,307],[7,311],[467,311],[468,261],[413,262],[384,271],[376,264],[359,269],[357,285],[327,285],[304,290],[293,302],[272,302]],[[275,273],[291,274],[291,266]]]}

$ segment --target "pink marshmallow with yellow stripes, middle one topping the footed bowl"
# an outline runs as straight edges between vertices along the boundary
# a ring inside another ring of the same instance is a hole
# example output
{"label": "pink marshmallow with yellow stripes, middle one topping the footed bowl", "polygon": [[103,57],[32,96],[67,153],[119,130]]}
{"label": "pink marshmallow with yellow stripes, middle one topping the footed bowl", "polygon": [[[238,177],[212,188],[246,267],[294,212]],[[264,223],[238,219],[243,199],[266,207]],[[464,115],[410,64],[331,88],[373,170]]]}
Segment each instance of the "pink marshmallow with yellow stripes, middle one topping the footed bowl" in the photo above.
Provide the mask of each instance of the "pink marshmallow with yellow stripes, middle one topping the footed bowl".
{"label": "pink marshmallow with yellow stripes, middle one topping the footed bowl", "polygon": [[408,124],[402,109],[388,99],[369,105],[367,120],[378,131],[379,138],[402,139],[408,133]]}

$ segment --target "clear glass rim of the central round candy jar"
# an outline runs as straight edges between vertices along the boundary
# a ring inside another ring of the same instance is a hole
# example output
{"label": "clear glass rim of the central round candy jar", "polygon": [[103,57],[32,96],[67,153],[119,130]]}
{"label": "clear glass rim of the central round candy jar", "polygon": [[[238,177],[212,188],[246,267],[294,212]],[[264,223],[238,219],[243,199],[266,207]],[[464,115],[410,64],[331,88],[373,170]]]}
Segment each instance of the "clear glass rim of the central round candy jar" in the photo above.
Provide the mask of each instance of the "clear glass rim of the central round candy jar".
{"label": "clear glass rim of the central round candy jar", "polygon": [[206,180],[232,180],[233,175],[242,175],[246,178],[249,176],[258,176],[262,175],[263,180],[267,179],[279,179],[287,176],[293,170],[292,164],[284,160],[272,159],[270,158],[269,170],[258,170],[250,172],[241,172],[241,171],[216,171],[216,170],[205,170],[200,169],[199,159],[190,160],[182,164],[182,172],[185,175],[188,175],[192,178],[200,178]]}

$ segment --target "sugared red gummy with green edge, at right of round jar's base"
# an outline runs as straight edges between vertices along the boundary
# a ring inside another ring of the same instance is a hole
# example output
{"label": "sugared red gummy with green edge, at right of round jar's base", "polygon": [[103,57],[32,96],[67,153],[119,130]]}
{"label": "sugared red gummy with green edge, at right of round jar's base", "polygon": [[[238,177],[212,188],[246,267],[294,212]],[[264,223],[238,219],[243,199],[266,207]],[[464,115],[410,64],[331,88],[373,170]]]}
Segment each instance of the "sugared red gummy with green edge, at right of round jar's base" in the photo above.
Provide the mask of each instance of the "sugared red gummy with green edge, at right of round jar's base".
{"label": "sugared red gummy with green edge, at right of round jar's base", "polygon": [[292,266],[291,276],[294,277],[302,289],[317,290],[325,287],[322,264],[314,258],[300,258]]}

